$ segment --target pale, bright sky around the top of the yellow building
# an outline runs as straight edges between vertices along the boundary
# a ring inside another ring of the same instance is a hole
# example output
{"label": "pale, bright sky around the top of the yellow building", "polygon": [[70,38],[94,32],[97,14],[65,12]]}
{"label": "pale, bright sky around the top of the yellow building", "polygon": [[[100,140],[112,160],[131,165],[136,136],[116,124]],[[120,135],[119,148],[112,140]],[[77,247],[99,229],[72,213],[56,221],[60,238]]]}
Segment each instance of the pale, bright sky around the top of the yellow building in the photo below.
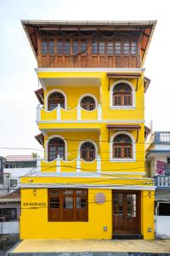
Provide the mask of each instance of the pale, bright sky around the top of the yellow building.
{"label": "pale, bright sky around the top of the yellow building", "polygon": [[157,20],[144,62],[145,124],[170,131],[169,9],[169,0],[0,0],[0,155],[42,154],[34,138],[37,61],[20,20]]}

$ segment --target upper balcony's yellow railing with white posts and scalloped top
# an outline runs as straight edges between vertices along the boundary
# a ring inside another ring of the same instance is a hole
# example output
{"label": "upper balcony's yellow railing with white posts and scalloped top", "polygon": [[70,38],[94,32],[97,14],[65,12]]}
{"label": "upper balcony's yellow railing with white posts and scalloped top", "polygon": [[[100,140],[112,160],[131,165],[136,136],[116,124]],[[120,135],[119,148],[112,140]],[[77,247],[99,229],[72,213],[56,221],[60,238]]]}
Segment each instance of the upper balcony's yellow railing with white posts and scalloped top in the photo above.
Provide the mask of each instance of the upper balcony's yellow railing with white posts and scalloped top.
{"label": "upper balcony's yellow railing with white posts and scalloped top", "polygon": [[54,108],[51,111],[45,110],[37,105],[37,122],[42,121],[66,121],[66,120],[101,120],[102,112],[101,105],[99,104],[97,108],[92,111],[88,111],[84,108],[81,108],[80,105],[77,108],[67,110],[61,108],[58,104],[57,108]]}

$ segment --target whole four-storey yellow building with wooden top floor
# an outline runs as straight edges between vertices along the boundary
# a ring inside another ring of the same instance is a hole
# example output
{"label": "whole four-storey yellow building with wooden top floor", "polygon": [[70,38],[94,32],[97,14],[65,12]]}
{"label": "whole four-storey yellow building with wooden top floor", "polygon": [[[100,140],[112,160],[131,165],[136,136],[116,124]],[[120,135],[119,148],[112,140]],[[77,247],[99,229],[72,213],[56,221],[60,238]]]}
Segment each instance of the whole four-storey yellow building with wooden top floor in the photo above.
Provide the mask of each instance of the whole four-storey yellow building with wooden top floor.
{"label": "whole four-storey yellow building with wooden top floor", "polygon": [[22,20],[37,58],[37,141],[20,238],[154,238],[144,59],[156,21]]}

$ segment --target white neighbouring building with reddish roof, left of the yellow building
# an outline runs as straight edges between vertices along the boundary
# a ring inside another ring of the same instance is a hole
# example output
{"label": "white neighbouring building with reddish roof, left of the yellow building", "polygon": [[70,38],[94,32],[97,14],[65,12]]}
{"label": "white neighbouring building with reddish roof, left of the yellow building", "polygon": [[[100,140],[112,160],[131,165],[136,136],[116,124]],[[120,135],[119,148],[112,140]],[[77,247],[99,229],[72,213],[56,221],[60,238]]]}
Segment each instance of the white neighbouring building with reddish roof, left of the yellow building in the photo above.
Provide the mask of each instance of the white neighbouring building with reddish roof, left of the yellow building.
{"label": "white neighbouring building with reddish roof, left of the yellow building", "polygon": [[31,155],[7,155],[3,158],[3,184],[0,196],[20,187],[20,177],[37,171],[37,160]]}

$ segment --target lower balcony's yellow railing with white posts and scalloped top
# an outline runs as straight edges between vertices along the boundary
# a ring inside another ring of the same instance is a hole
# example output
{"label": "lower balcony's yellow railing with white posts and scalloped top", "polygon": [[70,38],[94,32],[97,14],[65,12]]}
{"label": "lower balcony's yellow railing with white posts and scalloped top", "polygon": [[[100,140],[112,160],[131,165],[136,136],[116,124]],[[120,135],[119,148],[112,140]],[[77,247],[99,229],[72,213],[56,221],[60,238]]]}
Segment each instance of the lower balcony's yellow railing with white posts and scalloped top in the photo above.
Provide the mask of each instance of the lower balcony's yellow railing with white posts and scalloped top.
{"label": "lower balcony's yellow railing with white posts and scalloped top", "polygon": [[93,161],[85,161],[77,156],[75,160],[63,160],[59,158],[53,161],[37,160],[37,172],[89,172],[89,174],[101,172],[101,159],[98,155]]}

